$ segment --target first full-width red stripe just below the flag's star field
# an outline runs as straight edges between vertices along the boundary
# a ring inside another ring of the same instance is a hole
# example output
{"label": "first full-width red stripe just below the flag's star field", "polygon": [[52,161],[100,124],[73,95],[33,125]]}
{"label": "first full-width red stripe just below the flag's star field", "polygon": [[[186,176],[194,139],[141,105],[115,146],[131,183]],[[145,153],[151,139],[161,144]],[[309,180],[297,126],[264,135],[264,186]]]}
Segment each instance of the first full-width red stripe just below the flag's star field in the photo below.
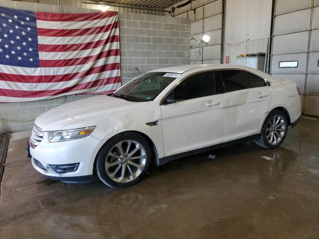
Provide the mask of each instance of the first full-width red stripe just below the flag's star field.
{"label": "first full-width red stripe just below the flag's star field", "polygon": [[18,83],[53,83],[53,82],[71,81],[74,79],[79,79],[85,76],[101,73],[104,71],[118,70],[120,68],[121,68],[120,63],[110,63],[110,64],[105,64],[102,66],[92,67],[86,71],[63,74],[63,75],[24,76],[24,75],[1,73],[0,80],[18,82]]}

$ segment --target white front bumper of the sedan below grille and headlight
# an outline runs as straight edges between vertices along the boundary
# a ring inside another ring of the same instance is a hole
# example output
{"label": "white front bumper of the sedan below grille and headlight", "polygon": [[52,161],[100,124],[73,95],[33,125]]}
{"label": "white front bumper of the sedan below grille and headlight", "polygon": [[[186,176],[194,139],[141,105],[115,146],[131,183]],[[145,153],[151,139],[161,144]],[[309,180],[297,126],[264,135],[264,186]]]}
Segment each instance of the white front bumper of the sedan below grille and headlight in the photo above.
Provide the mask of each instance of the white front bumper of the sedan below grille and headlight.
{"label": "white front bumper of the sedan below grille and headlight", "polygon": [[[47,137],[35,148],[27,142],[27,154],[32,166],[47,178],[68,183],[89,182],[93,179],[93,164],[103,142],[91,135],[61,142],[48,142]],[[74,172],[58,173],[49,165],[74,164],[79,166]]]}

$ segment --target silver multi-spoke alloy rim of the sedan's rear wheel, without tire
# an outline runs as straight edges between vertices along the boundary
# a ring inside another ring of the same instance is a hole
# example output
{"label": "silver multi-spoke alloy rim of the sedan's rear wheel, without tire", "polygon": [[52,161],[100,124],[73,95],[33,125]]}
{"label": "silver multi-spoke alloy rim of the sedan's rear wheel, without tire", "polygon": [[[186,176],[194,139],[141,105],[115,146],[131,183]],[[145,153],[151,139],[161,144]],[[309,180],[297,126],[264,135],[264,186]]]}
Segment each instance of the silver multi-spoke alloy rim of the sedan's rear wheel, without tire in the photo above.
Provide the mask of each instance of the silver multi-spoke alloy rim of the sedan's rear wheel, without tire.
{"label": "silver multi-spoke alloy rim of the sedan's rear wheel, without tire", "polygon": [[272,145],[278,144],[285,136],[286,127],[286,121],[282,116],[272,117],[266,127],[267,141]]}

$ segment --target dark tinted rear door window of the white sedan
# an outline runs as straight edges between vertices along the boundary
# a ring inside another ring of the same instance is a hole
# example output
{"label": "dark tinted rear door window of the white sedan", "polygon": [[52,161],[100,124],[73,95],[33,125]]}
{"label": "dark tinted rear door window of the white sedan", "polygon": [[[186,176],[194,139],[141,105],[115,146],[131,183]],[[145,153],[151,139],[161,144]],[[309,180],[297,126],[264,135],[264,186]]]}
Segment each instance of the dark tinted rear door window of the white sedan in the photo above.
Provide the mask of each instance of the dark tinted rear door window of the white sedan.
{"label": "dark tinted rear door window of the white sedan", "polygon": [[216,75],[220,76],[224,82],[225,91],[239,91],[251,88],[249,75],[247,71],[240,70],[224,70],[216,71]]}

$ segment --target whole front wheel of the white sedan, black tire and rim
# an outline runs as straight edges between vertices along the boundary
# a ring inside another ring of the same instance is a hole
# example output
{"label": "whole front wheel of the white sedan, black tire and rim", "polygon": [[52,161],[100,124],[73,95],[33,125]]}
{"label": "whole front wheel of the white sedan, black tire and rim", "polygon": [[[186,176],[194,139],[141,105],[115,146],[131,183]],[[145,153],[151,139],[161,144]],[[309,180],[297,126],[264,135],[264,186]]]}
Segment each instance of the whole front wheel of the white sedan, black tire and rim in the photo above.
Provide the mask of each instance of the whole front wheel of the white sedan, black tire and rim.
{"label": "whole front wheel of the white sedan, black tire and rim", "polygon": [[148,141],[138,133],[124,132],[109,139],[100,149],[96,171],[100,180],[112,188],[136,184],[151,165]]}

